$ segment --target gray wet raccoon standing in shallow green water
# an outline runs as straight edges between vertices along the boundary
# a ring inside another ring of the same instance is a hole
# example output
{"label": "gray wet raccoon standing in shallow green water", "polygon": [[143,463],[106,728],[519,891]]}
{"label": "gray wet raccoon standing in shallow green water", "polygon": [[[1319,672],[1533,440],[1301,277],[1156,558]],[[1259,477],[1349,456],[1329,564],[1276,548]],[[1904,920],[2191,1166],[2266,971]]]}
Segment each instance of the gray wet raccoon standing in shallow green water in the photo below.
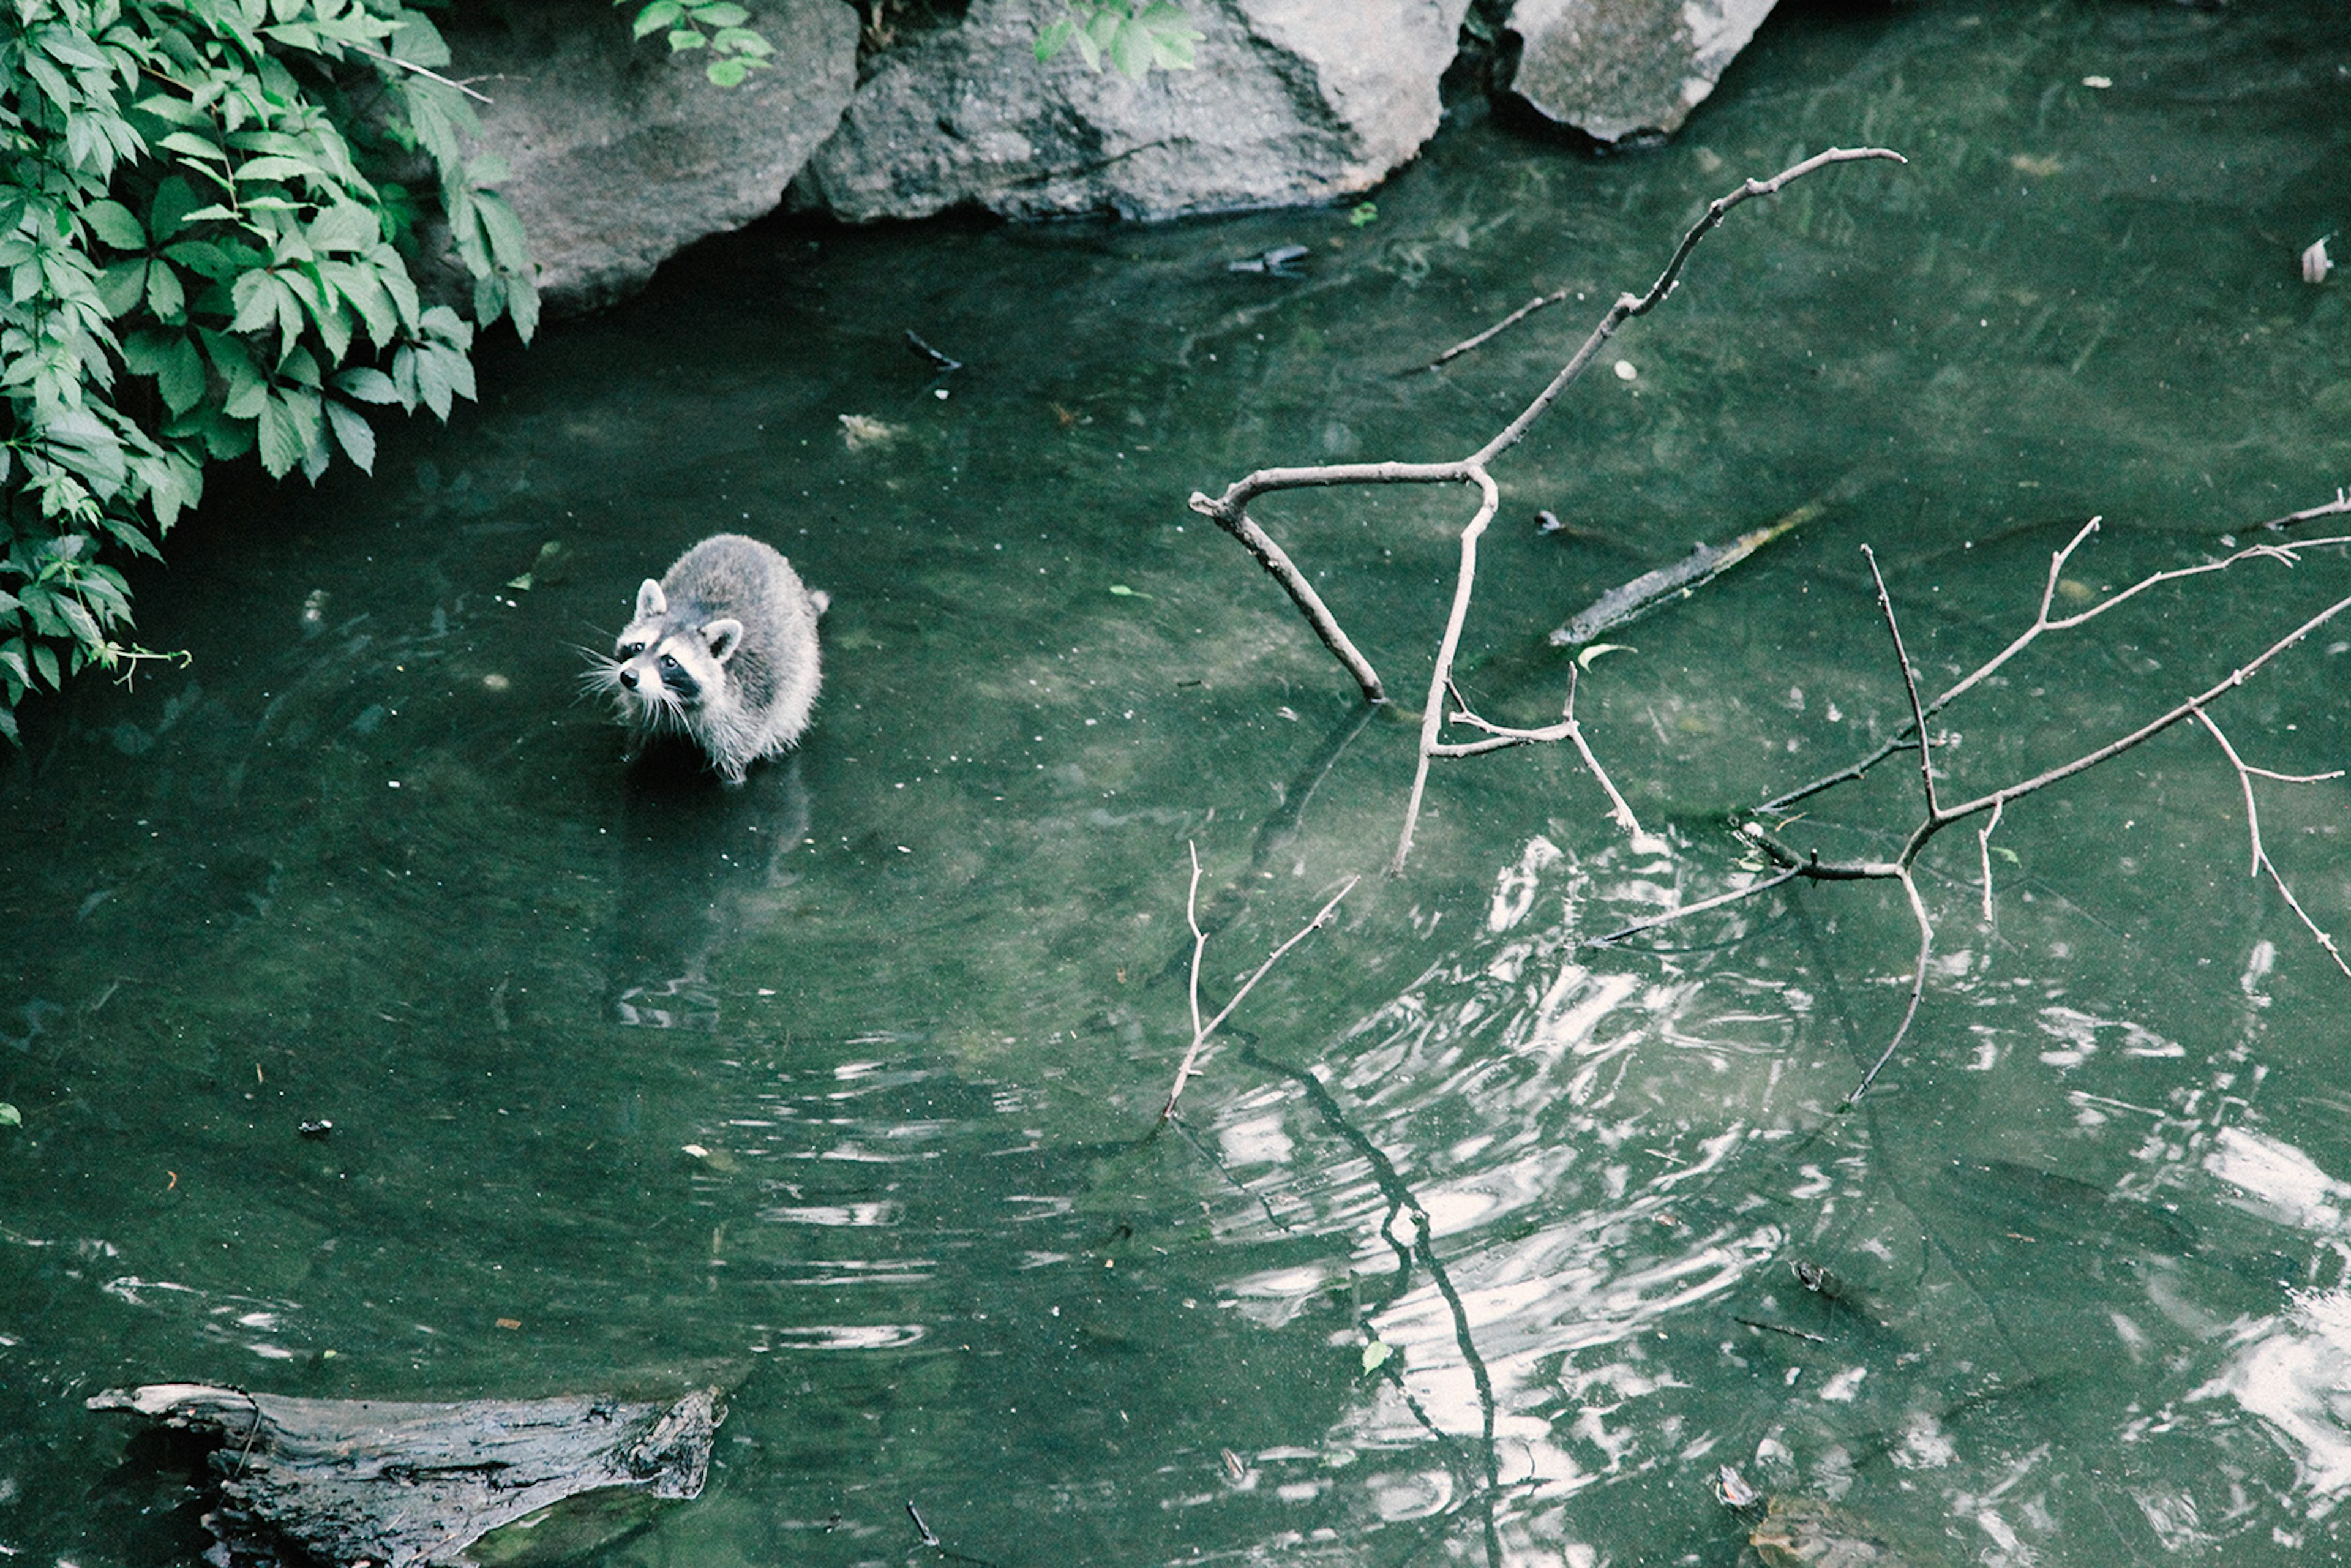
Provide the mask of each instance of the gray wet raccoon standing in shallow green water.
{"label": "gray wet raccoon standing in shallow green water", "polygon": [[637,616],[597,658],[588,684],[609,691],[635,755],[651,736],[694,741],[726,783],[799,741],[816,705],[816,618],[832,599],[811,590],[773,545],[712,534],[644,578]]}

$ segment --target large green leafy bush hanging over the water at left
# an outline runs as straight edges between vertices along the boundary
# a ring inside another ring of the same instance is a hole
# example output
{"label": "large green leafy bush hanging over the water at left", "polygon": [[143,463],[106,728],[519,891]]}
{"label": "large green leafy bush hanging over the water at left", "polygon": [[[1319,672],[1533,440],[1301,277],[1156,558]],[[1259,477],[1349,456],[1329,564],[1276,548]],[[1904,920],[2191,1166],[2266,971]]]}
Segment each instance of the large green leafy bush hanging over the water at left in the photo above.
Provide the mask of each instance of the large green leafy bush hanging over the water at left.
{"label": "large green leafy bush hanging over the water at left", "polygon": [[[529,249],[468,160],[449,49],[400,0],[14,0],[0,26],[0,736],[118,639],[106,555],[155,541],[205,465],[362,470],[367,407],[447,418],[475,324],[538,320]],[[400,179],[426,174],[437,193]],[[437,212],[435,212],[437,195]],[[426,303],[447,223],[473,322]]]}

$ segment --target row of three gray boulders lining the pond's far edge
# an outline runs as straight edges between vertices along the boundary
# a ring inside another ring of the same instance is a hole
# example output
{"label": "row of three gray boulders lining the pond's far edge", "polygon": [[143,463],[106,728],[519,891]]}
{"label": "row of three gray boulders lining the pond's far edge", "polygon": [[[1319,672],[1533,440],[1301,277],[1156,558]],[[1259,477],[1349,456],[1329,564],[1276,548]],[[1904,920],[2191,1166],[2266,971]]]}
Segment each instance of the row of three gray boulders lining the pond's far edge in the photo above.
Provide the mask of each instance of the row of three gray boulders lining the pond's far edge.
{"label": "row of three gray boulders lining the pond's far edge", "polygon": [[1596,143],[1674,132],[1773,0],[1185,0],[1194,71],[1037,61],[1063,0],[971,0],[863,59],[844,0],[762,0],[773,68],[712,87],[607,0],[451,21],[552,313],[635,294],[677,249],[785,202],[851,223],[980,209],[1173,219],[1361,195],[1436,132],[1467,52]]}

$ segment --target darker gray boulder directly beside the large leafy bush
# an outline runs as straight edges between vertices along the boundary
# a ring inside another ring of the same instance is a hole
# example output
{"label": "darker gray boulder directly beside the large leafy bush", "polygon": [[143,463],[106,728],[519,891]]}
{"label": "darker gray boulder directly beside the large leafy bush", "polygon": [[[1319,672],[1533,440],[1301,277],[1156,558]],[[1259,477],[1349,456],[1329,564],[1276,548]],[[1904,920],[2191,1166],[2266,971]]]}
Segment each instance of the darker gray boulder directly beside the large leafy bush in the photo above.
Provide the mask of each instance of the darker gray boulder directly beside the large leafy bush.
{"label": "darker gray boulder directly beside the large leafy bush", "polygon": [[773,68],[741,87],[712,87],[701,52],[630,40],[635,7],[484,9],[447,26],[449,73],[491,96],[477,141],[513,169],[498,190],[555,313],[609,306],[677,249],[773,212],[856,89],[858,16],[842,0],[762,0],[752,26]]}

